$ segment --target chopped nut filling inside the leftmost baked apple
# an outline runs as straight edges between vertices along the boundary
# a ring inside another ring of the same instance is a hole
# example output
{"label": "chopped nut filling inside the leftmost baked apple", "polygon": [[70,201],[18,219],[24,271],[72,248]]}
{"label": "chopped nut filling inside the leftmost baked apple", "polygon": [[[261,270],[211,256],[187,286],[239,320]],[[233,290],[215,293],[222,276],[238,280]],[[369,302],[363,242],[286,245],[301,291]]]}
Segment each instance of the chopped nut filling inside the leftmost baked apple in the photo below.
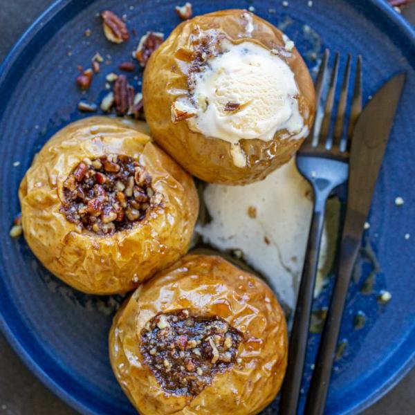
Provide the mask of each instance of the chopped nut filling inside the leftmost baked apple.
{"label": "chopped nut filling inside the leftmost baked apple", "polygon": [[131,229],[163,195],[151,176],[129,156],[109,154],[84,159],[64,181],[60,211],[70,222],[99,235]]}

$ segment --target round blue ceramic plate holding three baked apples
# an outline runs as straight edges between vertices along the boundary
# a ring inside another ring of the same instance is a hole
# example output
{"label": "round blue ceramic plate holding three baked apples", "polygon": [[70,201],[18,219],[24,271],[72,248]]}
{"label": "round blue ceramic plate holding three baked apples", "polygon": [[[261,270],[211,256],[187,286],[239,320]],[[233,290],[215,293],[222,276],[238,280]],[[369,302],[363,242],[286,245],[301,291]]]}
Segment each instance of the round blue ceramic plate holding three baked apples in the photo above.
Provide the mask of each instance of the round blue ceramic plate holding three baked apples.
{"label": "round blue ceramic plate holding three baked apples", "polygon": [[[341,334],[348,345],[335,363],[327,403],[328,414],[356,413],[385,394],[414,363],[414,31],[384,1],[314,0],[312,6],[307,0],[289,0],[288,6],[264,0],[192,3],[196,14],[255,7],[259,16],[295,40],[312,70],[326,47],[339,50],[342,59],[347,53],[362,54],[365,100],[391,75],[407,72],[365,235],[366,254],[349,293]],[[85,116],[77,111],[81,97],[74,82],[77,64],[88,67],[97,51],[109,61],[84,94],[86,100],[99,103],[105,75],[130,57],[140,36],[147,30],[168,34],[179,23],[174,6],[176,1],[169,0],[58,1],[1,67],[0,326],[42,382],[83,414],[134,413],[111,372],[107,351],[111,318],[122,298],[73,291],[39,264],[23,238],[10,239],[8,230],[19,212],[17,188],[44,142],[68,122]],[[97,17],[103,9],[126,14],[137,35],[122,45],[109,44]],[[86,29],[91,30],[90,37],[84,35]],[[136,86],[140,75],[131,74]],[[396,206],[396,196],[405,204]],[[369,247],[374,255],[367,255]],[[373,289],[364,294],[361,288],[367,288],[370,275],[375,276]],[[382,289],[392,294],[387,305],[376,300]],[[328,293],[329,288],[320,304],[326,303]],[[359,310],[367,315],[367,323],[355,330],[353,319]],[[316,343],[313,335],[304,388]],[[276,403],[266,413],[275,413],[275,407]]]}

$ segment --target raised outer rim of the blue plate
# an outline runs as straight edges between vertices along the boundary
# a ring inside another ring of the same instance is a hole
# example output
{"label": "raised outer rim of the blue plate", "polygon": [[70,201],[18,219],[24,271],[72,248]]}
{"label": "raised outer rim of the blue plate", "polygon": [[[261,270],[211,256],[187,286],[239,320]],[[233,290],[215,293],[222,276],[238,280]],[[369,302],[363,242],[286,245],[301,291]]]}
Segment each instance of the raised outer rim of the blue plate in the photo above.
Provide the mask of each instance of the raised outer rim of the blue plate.
{"label": "raised outer rim of the blue plate", "polygon": [[[55,0],[53,3],[51,3],[50,6],[48,6],[48,8],[46,8],[44,12],[39,15],[39,17],[37,17],[37,19],[35,19],[35,21],[33,21],[33,23],[28,26],[28,28],[24,31],[21,37],[19,37],[15,45],[9,51],[8,55],[6,55],[3,63],[0,65],[0,86],[7,79],[10,69],[14,66],[15,62],[28,46],[30,41],[43,30],[46,24],[50,23],[50,21],[53,21],[59,12],[62,12],[62,10],[71,5],[71,3],[85,3],[85,5],[88,6],[95,1],[96,0]],[[389,17],[393,24],[397,25],[400,30],[403,30],[406,37],[412,39],[412,42],[415,45],[415,28],[409,24],[409,22],[404,19],[402,15],[391,8],[386,0],[367,0],[367,3],[371,3],[371,6],[378,8],[381,13]],[[0,111],[0,118],[1,112],[2,111]],[[46,388],[52,391],[53,394],[58,396],[61,400],[63,400],[66,404],[68,404],[76,411],[88,415],[96,414],[96,412],[94,412],[91,407],[85,405],[80,400],[77,400],[68,391],[66,391],[66,389],[61,387],[51,376],[46,374],[42,366],[37,363],[35,358],[33,358],[33,356],[31,356],[28,351],[26,351],[17,335],[15,335],[8,322],[6,322],[6,319],[2,313],[0,313],[0,331],[5,336],[8,344],[10,344],[10,347],[12,347],[12,349],[17,353],[17,356],[19,356],[21,362],[23,362],[24,365],[28,367],[28,369],[42,382]],[[363,400],[360,400],[358,405],[350,408],[349,412],[345,412],[344,414],[358,414],[376,403],[378,400],[380,400],[380,398],[385,396],[388,391],[395,387],[398,382],[400,382],[400,380],[402,380],[402,378],[407,373],[409,373],[413,367],[415,367],[415,351],[413,351],[412,355],[409,356],[407,361],[400,368],[398,368],[398,370],[387,380],[387,382],[385,382],[384,385],[374,390]]]}

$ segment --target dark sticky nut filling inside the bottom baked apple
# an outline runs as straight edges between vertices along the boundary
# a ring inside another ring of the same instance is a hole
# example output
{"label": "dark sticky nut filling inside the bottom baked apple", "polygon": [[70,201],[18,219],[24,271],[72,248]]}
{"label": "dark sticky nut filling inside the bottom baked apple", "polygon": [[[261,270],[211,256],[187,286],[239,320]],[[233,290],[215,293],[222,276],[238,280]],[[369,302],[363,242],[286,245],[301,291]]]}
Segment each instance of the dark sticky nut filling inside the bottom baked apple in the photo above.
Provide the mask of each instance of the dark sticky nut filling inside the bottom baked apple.
{"label": "dark sticky nut filling inside the bottom baked apple", "polygon": [[188,310],[161,313],[141,331],[141,352],[160,385],[170,393],[196,396],[216,374],[237,361],[242,334],[220,317]]}

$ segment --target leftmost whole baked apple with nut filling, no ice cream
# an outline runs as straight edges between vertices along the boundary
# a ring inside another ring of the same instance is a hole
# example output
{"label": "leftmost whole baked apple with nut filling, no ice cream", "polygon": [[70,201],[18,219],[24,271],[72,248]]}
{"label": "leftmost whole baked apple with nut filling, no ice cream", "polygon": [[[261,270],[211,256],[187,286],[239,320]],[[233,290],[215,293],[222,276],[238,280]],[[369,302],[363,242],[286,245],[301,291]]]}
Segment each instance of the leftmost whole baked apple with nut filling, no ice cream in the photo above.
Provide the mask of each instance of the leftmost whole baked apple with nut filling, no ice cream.
{"label": "leftmost whole baked apple with nut filling, no ice cream", "polygon": [[21,182],[28,245],[80,291],[129,291],[187,252],[199,210],[192,177],[142,129],[107,117],[73,122]]}

